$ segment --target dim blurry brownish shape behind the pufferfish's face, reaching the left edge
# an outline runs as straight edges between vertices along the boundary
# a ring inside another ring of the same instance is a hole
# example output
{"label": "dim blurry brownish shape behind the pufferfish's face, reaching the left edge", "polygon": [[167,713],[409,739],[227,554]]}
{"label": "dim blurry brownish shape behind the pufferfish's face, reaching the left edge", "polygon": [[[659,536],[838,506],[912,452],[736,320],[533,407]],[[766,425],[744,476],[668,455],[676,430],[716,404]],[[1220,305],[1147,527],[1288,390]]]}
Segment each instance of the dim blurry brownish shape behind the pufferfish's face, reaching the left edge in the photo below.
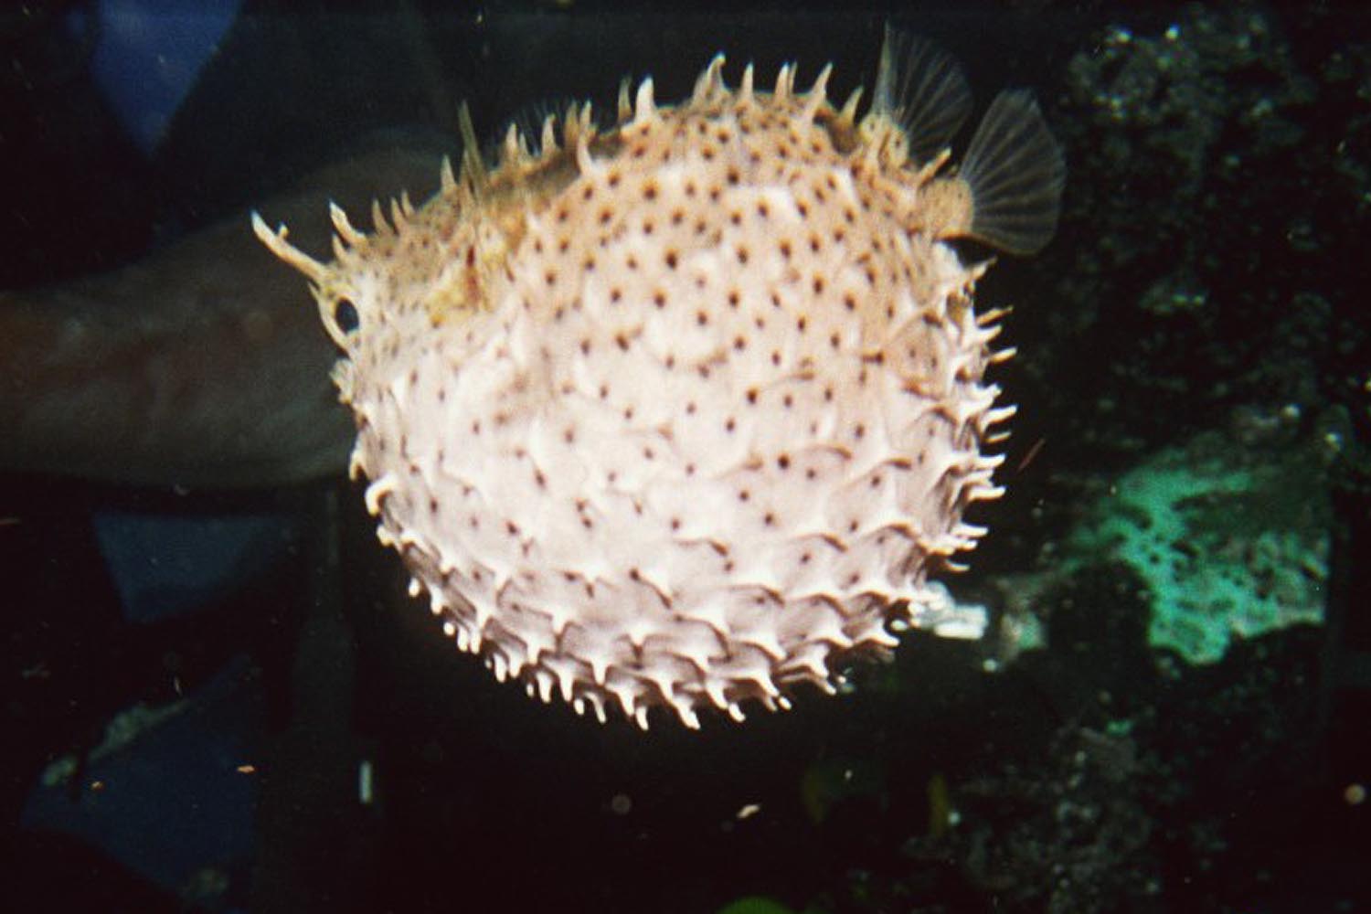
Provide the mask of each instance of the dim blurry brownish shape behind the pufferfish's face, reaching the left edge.
{"label": "dim blurry brownish shape behind the pufferfish's face, reaching the left edge", "polygon": [[[374,152],[267,208],[322,247],[329,199],[365,206],[436,170],[436,155]],[[352,422],[303,296],[241,217],[107,274],[0,292],[0,469],[203,488],[340,473]]]}

